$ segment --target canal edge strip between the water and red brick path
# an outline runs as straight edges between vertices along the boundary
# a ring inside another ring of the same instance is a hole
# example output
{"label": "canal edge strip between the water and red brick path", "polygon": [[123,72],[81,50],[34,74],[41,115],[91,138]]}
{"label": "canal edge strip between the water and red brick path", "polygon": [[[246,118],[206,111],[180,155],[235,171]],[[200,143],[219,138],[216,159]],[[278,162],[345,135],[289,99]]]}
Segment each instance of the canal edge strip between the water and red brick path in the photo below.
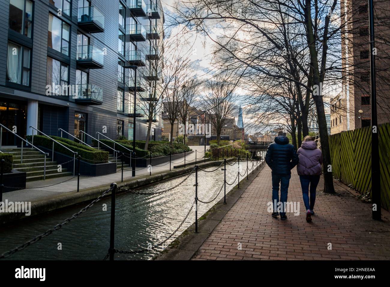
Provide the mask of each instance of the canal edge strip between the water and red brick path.
{"label": "canal edge strip between the water and red brick path", "polygon": [[238,198],[244,193],[249,184],[257,177],[266,163],[262,163],[258,170],[254,170],[254,174],[246,176],[240,181],[240,188],[236,184],[232,190],[226,194],[226,204],[223,204],[223,197],[213,207],[211,207],[204,215],[198,219],[198,232],[195,233],[195,223],[188,227],[180,234],[172,243],[168,245],[159,255],[153,260],[190,260],[193,255],[199,250],[200,246],[210,236],[211,232],[220,223],[222,218],[234,206]]}

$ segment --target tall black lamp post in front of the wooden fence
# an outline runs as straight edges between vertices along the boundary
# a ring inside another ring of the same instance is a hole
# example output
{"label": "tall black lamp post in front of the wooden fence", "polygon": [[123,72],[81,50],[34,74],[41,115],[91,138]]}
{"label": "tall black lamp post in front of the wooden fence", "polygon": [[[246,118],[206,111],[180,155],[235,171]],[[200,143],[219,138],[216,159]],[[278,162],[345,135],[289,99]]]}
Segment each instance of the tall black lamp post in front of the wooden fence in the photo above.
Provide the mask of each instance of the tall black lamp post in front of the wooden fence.
{"label": "tall black lamp post in front of the wooden fence", "polygon": [[379,136],[376,117],[374,2],[369,0],[370,72],[371,72],[371,194],[372,219],[381,220],[381,174],[379,173]]}

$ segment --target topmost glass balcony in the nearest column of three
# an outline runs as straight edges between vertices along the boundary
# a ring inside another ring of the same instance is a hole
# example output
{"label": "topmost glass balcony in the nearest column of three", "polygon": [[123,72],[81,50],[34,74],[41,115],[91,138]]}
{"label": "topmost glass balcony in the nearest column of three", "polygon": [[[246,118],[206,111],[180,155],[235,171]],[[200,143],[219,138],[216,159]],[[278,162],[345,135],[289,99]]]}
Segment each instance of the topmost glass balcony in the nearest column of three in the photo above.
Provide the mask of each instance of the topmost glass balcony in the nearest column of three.
{"label": "topmost glass balcony in the nearest column of three", "polygon": [[104,31],[104,16],[94,6],[78,8],[78,26],[89,33],[100,33]]}

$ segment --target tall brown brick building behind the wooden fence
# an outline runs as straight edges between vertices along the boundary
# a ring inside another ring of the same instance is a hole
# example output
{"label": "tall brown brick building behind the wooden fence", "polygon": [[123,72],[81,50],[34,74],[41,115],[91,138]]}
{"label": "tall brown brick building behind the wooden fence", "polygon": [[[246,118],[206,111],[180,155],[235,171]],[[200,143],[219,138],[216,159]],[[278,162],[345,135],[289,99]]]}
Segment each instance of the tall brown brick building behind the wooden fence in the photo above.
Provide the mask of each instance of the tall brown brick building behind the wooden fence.
{"label": "tall brown brick building behind the wooden fence", "polygon": [[[377,117],[390,120],[390,2],[374,1]],[[341,2],[342,92],[331,100],[331,133],[371,125],[370,38],[367,1]]]}

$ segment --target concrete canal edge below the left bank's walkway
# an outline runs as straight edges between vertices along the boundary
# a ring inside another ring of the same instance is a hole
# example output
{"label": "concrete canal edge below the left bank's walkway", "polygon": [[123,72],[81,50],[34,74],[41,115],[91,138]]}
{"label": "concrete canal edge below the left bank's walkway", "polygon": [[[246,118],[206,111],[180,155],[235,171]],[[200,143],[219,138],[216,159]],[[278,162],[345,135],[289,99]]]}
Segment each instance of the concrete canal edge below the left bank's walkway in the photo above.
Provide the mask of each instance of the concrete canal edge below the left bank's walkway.
{"label": "concrete canal edge below the left bank's walkway", "polygon": [[[234,161],[235,158],[230,158],[227,161]],[[207,161],[206,163],[198,163],[199,167],[206,168],[210,166],[220,165],[222,161]],[[167,179],[173,179],[174,177],[178,177],[180,175],[188,174],[191,170],[193,170],[194,166],[183,167],[183,168],[175,168],[171,171],[163,171],[158,172],[153,175],[144,175],[142,177],[137,177],[134,179],[125,179],[123,182],[117,182],[119,187],[122,188],[140,188],[149,184],[158,183],[161,181],[165,181]],[[81,179],[80,179],[81,180]],[[69,191],[61,194],[56,194],[42,200],[37,200],[31,202],[31,215],[26,216],[25,213],[0,213],[0,225],[10,223],[12,221],[21,220],[25,218],[32,218],[32,216],[49,213],[51,211],[55,211],[57,209],[61,209],[64,207],[74,206],[82,203],[89,203],[95,198],[102,195],[106,190],[110,188],[110,184],[106,183],[100,186],[95,186],[92,188],[85,188],[77,191]],[[125,191],[124,191],[125,192]],[[118,192],[120,193],[120,192]],[[107,193],[106,196],[111,195],[111,192]]]}

